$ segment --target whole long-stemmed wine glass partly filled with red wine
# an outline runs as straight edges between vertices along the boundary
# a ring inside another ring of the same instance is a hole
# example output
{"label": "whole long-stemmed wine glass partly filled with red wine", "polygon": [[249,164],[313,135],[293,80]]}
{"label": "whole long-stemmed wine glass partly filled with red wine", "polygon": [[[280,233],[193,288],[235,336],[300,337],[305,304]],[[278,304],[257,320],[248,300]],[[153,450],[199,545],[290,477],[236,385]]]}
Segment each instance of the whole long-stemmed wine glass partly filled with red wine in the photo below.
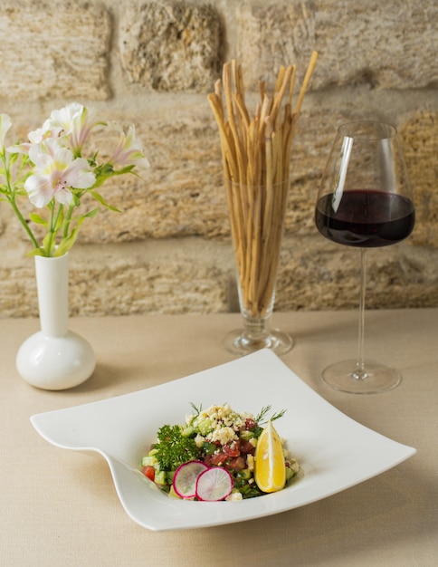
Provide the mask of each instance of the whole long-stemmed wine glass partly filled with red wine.
{"label": "whole long-stemmed wine glass partly filled with red wine", "polygon": [[357,359],[328,366],[322,380],[344,392],[369,394],[395,388],[401,374],[364,359],[367,248],[394,245],[414,229],[414,200],[397,131],[389,124],[343,124],[331,148],[315,209],[319,232],[360,248]]}

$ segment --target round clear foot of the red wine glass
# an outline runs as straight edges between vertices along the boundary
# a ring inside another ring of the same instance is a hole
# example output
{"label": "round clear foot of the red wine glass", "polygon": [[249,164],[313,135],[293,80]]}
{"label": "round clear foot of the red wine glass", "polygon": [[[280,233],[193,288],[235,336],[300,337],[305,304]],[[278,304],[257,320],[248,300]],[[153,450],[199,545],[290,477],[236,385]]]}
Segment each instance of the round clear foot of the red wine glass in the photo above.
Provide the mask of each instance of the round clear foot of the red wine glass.
{"label": "round clear foot of the red wine glass", "polygon": [[392,368],[365,360],[364,370],[358,370],[357,360],[343,360],[323,370],[322,381],[333,389],[349,394],[377,394],[394,389],[402,380],[401,373]]}

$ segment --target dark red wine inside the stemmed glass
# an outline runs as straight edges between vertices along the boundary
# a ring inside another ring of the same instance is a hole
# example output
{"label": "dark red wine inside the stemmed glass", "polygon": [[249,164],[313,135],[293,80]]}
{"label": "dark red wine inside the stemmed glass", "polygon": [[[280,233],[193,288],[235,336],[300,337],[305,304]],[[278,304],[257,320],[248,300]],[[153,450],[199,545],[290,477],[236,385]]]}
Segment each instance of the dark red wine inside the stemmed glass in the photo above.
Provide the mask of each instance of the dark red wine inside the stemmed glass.
{"label": "dark red wine inside the stemmed glass", "polygon": [[396,193],[349,189],[334,210],[333,195],[320,197],[315,223],[321,235],[341,245],[394,245],[414,229],[414,204]]}

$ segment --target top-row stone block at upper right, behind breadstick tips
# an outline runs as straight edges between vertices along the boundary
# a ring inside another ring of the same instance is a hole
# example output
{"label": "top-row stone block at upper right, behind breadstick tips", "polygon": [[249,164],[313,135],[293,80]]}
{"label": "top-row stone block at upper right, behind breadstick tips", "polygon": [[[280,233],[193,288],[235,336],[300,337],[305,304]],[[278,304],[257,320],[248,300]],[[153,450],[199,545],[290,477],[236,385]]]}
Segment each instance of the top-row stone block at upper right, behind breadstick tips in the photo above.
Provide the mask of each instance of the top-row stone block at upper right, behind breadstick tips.
{"label": "top-row stone block at upper right, behind breadstick tips", "polygon": [[434,0],[245,0],[237,14],[238,58],[255,90],[281,64],[297,63],[299,76],[309,55],[319,52],[311,88],[367,84],[380,89],[418,89],[436,82],[438,5]]}

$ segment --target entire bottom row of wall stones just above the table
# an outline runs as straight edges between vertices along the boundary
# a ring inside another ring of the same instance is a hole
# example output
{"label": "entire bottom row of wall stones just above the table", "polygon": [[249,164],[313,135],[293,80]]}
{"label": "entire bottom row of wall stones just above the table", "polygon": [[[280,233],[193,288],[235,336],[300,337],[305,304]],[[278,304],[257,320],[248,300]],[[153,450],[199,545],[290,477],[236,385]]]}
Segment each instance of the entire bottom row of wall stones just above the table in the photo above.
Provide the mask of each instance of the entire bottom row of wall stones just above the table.
{"label": "entire bottom row of wall stones just above the table", "polygon": [[[3,317],[37,317],[32,258],[6,254],[0,267]],[[436,307],[436,251],[410,241],[368,251],[368,309]],[[276,311],[357,309],[359,251],[319,234],[287,235]],[[70,312],[78,316],[237,312],[230,243],[184,238],[78,245],[71,252]],[[25,298],[25,301],[24,301]]]}

